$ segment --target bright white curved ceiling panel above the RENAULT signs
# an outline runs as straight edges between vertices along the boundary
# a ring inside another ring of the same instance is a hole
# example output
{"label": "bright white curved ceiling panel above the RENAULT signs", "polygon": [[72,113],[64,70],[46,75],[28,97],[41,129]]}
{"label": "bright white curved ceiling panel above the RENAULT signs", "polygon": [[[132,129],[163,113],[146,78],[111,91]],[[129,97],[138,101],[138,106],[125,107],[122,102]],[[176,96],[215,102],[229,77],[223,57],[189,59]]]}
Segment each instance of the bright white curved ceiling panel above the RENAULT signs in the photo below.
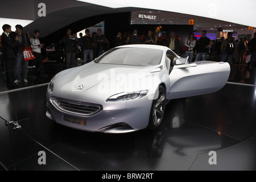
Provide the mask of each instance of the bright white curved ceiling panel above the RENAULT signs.
{"label": "bright white curved ceiling panel above the RENAULT signs", "polygon": [[255,0],[158,0],[158,1],[138,1],[138,0],[77,0],[96,5],[121,8],[139,7],[154,10],[172,11],[206,18],[213,18],[256,27],[256,1]]}

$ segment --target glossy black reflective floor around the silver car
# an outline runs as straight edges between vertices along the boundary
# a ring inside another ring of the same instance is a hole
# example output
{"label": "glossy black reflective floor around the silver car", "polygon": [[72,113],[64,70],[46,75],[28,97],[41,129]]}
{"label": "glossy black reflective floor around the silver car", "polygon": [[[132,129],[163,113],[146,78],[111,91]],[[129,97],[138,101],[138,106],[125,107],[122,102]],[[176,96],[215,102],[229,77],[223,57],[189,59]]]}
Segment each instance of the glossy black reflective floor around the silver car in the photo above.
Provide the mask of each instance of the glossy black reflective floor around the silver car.
{"label": "glossy black reflective floor around the silver car", "polygon": [[[87,133],[46,113],[46,89],[0,94],[0,162],[9,170],[255,170],[256,88],[227,84],[219,92],[172,100],[159,130]],[[38,164],[45,151],[47,164]],[[217,165],[208,163],[217,152]]]}

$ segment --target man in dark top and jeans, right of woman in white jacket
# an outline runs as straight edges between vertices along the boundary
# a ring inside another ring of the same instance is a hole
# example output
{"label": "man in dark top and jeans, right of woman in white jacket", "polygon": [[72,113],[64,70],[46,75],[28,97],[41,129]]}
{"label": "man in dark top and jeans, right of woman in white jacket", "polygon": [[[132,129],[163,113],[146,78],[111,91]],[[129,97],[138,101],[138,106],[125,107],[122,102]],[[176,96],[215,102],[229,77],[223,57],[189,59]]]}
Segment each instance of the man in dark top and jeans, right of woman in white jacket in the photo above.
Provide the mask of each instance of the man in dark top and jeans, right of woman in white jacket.
{"label": "man in dark top and jeans, right of woman in white jacket", "polygon": [[208,48],[212,46],[213,42],[210,41],[210,39],[206,36],[207,31],[203,30],[201,32],[202,36],[198,40],[197,45],[196,45],[196,59],[195,61],[200,61],[200,60],[207,60],[207,53],[208,53]]}

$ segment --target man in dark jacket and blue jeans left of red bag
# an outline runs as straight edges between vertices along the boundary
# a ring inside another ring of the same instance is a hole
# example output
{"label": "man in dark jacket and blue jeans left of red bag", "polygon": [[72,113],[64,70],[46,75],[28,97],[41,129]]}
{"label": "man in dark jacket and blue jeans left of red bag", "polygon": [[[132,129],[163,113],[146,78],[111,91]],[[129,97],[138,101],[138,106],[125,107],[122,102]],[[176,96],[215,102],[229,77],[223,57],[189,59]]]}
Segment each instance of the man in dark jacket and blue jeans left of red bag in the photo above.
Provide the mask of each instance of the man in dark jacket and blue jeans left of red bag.
{"label": "man in dark jacket and blue jeans left of red bag", "polygon": [[[24,61],[24,55],[23,51],[27,46],[31,46],[30,39],[28,39],[28,36],[26,34],[22,33],[23,27],[20,24],[17,24],[15,26],[16,28],[16,34],[18,36],[18,42],[19,45],[16,47],[16,59],[15,59],[15,65],[14,65],[14,78],[15,84],[18,84],[21,80],[20,76],[20,66],[22,64],[22,61]],[[26,83],[27,81],[27,72],[28,72],[28,61],[24,61],[24,67],[23,67],[23,81]]]}

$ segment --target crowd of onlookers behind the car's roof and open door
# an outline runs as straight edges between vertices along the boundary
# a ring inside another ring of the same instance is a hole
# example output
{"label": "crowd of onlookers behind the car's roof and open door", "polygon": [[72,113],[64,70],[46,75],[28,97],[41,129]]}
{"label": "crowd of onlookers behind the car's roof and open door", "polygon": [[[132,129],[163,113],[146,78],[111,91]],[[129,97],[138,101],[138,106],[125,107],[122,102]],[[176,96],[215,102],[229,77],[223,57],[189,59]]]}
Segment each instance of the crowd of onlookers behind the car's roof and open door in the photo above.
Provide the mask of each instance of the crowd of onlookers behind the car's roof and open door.
{"label": "crowd of onlookers behind the car's roof and open door", "polygon": [[126,35],[127,34],[122,36],[122,33],[118,32],[114,45],[155,44],[167,46],[177,55],[188,56],[189,63],[192,63],[192,61],[209,59],[214,61],[224,61],[229,64],[231,64],[232,61],[234,61],[234,63],[245,64],[246,57],[249,54],[251,55],[251,63],[255,62],[255,34],[250,42],[248,42],[246,37],[235,41],[232,32],[228,32],[226,39],[222,36],[221,39],[210,40],[207,37],[207,31],[205,30],[201,31],[200,39],[197,39],[192,32],[184,42],[179,34],[176,35],[173,31],[170,33],[170,36],[156,36],[151,30],[148,31],[147,36],[139,36],[138,30],[134,30],[133,34]]}

